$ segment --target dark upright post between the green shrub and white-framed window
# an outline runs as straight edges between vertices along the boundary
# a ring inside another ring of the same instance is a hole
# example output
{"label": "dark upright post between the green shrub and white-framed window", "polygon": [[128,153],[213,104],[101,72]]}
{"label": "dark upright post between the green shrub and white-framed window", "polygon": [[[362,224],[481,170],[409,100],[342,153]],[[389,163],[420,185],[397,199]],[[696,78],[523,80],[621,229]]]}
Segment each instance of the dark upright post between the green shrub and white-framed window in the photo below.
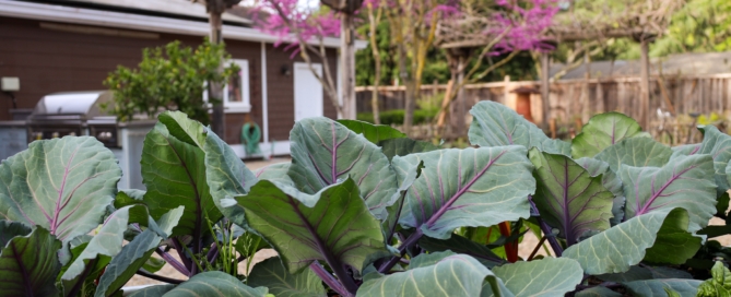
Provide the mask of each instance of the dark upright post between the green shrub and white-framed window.
{"label": "dark upright post between the green shrub and white-framed window", "polygon": [[[208,1],[208,11],[209,11],[209,24],[211,25],[211,44],[221,44],[223,40],[221,34],[221,27],[223,26],[223,20],[221,14],[223,13],[223,3],[221,0],[209,0]],[[223,62],[219,64],[219,73],[223,73]],[[211,118],[211,129],[220,138],[225,139],[225,114],[223,112],[223,86],[222,83],[209,82],[209,100],[213,102],[213,115]]]}

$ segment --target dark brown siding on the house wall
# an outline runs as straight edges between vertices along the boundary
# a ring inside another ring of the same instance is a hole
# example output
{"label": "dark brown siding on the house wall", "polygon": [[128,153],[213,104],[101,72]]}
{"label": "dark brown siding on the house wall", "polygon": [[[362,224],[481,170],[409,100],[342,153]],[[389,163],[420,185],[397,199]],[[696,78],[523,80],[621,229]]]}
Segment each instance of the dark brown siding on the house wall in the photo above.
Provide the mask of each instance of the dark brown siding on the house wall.
{"label": "dark brown siding on the house wall", "polygon": [[[82,34],[45,29],[40,21],[0,17],[0,76],[17,76],[21,91],[15,93],[17,108],[33,108],[49,93],[104,90],[103,81],[117,66],[137,67],[142,49],[180,40],[186,46],[197,46],[199,36],[156,34],[157,38],[139,38]],[[226,114],[224,140],[240,143],[241,127],[252,120],[263,124],[261,90],[261,44],[244,40],[225,40],[226,50],[234,59],[249,61],[249,114]],[[267,81],[269,99],[270,140],[285,141],[294,124],[293,76],[281,74],[280,69],[302,61],[290,58],[282,48],[267,45]],[[333,80],[337,78],[337,51],[328,51]],[[316,62],[317,61],[316,59]],[[331,100],[323,92],[323,112],[335,118]],[[0,120],[10,120],[11,100],[0,95]]]}

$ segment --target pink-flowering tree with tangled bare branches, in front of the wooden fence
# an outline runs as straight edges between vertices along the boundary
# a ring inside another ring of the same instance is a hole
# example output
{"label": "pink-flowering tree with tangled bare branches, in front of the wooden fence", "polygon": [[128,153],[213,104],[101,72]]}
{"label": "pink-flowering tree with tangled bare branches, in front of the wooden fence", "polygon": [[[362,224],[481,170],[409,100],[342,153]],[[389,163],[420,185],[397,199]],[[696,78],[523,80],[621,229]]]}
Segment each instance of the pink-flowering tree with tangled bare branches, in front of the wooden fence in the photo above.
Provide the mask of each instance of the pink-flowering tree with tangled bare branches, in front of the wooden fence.
{"label": "pink-flowering tree with tangled bare branches, in front of the wooden fence", "polygon": [[[460,3],[461,14],[440,24],[437,44],[448,54],[453,87],[448,90],[437,126],[444,126],[455,99],[463,102],[464,85],[479,82],[492,71],[509,62],[521,51],[547,51],[545,34],[558,12],[556,0],[497,0],[490,5],[475,1]],[[502,59],[494,61],[497,57]],[[483,69],[490,61],[491,66]],[[471,66],[470,66],[471,64]],[[457,133],[465,123],[455,115]]]}

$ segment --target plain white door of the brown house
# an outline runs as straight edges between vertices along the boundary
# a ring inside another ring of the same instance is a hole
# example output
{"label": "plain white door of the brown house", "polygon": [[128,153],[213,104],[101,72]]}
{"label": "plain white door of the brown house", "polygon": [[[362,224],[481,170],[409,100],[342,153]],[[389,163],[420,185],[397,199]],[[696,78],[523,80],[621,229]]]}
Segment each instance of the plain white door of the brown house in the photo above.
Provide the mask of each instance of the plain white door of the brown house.
{"label": "plain white door of the brown house", "polygon": [[[313,64],[322,78],[322,66]],[[307,63],[294,63],[294,120],[322,117],[322,85]]]}

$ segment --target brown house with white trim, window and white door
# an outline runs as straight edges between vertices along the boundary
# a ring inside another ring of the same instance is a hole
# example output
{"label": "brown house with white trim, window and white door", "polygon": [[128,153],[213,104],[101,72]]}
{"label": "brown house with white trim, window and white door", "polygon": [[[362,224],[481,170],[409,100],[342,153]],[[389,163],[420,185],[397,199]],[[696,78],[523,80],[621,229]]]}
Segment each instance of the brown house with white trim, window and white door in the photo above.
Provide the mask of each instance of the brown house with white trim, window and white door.
{"label": "brown house with white trim, window and white door", "polygon": [[[237,11],[223,16],[226,50],[241,67],[240,87],[227,88],[224,98],[224,139],[243,157],[241,127],[254,121],[261,127],[262,151],[273,144],[274,154],[287,154],[296,120],[334,118],[335,110],[309,68]],[[33,108],[49,93],[103,90],[117,66],[141,61],[143,48],[173,40],[196,46],[208,34],[205,8],[189,0],[0,0],[0,76],[19,78],[17,108]],[[325,45],[339,75],[340,40]],[[0,94],[0,121],[12,119],[11,108]]]}

